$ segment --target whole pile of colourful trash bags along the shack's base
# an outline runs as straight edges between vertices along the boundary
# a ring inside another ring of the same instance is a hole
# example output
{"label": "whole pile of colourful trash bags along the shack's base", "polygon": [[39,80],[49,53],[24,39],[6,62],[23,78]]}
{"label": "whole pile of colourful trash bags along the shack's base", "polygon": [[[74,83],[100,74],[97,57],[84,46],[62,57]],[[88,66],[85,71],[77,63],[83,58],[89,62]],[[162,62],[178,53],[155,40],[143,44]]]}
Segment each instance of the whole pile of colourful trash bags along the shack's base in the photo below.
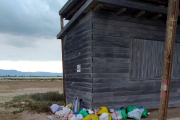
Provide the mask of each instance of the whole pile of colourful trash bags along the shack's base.
{"label": "whole pile of colourful trash bags along the shack's base", "polygon": [[[121,120],[127,118],[133,118],[140,120],[141,118],[147,118],[150,114],[143,107],[129,106],[127,109],[107,109],[101,107],[100,109],[85,109],[80,110],[80,103],[74,102],[68,104],[66,107],[61,107],[57,104],[51,106],[51,111],[57,115],[58,118],[64,120]],[[49,117],[48,117],[49,118]],[[52,120],[53,118],[51,118]]]}

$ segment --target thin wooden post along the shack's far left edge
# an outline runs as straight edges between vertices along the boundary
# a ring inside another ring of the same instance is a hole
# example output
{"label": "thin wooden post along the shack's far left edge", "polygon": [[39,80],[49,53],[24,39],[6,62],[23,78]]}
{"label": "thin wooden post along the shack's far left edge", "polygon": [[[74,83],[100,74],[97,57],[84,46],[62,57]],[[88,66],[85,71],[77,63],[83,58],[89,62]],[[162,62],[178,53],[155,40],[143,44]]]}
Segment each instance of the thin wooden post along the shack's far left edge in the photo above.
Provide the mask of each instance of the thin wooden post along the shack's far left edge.
{"label": "thin wooden post along the shack's far left edge", "polygon": [[[61,30],[64,27],[64,19],[61,15]],[[64,65],[64,43],[63,39],[61,39],[61,49],[62,49],[62,69],[63,69],[63,95],[64,95],[64,106],[66,106],[66,90],[65,90],[65,65]]]}

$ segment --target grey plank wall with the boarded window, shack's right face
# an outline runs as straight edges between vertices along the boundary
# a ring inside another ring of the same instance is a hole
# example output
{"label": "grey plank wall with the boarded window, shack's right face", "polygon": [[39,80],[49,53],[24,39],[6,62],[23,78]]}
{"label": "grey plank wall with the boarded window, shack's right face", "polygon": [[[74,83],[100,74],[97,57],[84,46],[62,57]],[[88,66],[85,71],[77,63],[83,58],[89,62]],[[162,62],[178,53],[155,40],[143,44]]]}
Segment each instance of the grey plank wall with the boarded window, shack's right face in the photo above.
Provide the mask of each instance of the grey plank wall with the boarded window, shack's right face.
{"label": "grey plank wall with the boarded window, shack's right face", "polygon": [[[92,108],[158,108],[165,23],[94,12],[92,26]],[[180,42],[179,33],[176,42]],[[170,107],[180,106],[179,45],[175,47]]]}

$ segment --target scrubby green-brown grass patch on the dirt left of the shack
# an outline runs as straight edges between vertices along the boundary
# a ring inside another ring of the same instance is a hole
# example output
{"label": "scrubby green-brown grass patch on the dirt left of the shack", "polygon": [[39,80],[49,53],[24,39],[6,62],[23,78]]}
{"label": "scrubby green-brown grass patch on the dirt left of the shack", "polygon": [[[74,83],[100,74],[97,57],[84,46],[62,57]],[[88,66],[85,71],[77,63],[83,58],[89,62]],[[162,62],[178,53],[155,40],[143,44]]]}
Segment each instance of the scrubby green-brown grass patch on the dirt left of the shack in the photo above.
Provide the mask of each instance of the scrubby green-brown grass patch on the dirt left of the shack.
{"label": "scrubby green-brown grass patch on the dirt left of the shack", "polygon": [[[28,104],[22,104],[26,102]],[[15,96],[11,101],[6,102],[6,108],[19,108],[19,111],[13,111],[14,114],[27,110],[33,113],[49,113],[52,104],[63,104],[63,94],[59,92],[34,93]]]}

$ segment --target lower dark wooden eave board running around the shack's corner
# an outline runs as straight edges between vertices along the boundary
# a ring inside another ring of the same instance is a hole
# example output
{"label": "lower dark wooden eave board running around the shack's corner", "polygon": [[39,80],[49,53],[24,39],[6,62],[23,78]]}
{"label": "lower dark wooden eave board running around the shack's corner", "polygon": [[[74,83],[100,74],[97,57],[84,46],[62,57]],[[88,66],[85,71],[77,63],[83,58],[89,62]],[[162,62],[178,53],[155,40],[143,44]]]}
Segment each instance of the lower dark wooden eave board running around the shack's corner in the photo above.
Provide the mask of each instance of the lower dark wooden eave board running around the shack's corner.
{"label": "lower dark wooden eave board running around the shack's corner", "polygon": [[[133,8],[138,10],[144,10],[154,13],[161,13],[167,15],[167,8],[154,6],[151,4],[146,3],[136,3],[131,0],[88,0],[78,11],[77,13],[71,18],[71,20],[66,24],[66,26],[59,32],[57,35],[57,39],[61,39],[68,31],[68,29],[76,22],[76,20],[81,16],[82,13],[90,6],[92,2],[95,3],[109,3],[112,5],[119,5],[121,7]],[[180,16],[180,12],[179,12]]]}

